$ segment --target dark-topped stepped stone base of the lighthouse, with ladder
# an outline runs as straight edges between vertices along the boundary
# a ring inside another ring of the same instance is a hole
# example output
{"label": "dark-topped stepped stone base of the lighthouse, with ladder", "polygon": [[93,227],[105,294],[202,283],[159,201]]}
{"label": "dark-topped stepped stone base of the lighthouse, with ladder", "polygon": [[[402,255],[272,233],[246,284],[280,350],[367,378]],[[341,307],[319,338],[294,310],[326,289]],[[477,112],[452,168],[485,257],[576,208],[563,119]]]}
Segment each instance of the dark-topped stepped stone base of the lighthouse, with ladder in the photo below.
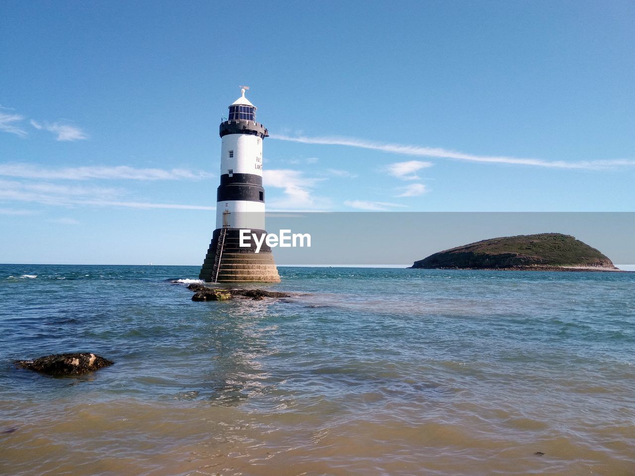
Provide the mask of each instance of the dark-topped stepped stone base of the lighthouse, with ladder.
{"label": "dark-topped stepped stone base of the lighthouse, with ladder", "polygon": [[[267,244],[263,242],[260,252],[256,253],[253,240],[248,248],[239,246],[238,228],[225,228],[224,242],[221,230],[214,230],[199,279],[206,282],[280,282],[274,256]],[[265,230],[251,230],[251,233],[257,234],[258,240],[267,234]]]}

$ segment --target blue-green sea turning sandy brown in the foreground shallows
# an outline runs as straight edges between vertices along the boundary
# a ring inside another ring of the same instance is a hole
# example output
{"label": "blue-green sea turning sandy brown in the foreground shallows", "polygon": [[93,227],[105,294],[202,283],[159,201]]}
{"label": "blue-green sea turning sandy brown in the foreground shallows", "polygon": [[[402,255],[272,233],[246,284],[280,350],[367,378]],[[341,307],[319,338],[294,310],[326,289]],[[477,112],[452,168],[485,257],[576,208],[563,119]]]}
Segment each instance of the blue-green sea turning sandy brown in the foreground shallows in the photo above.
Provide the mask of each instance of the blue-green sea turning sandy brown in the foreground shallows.
{"label": "blue-green sea turning sandy brown in the foreground shallows", "polygon": [[635,274],[198,272],[0,265],[0,474],[635,475]]}

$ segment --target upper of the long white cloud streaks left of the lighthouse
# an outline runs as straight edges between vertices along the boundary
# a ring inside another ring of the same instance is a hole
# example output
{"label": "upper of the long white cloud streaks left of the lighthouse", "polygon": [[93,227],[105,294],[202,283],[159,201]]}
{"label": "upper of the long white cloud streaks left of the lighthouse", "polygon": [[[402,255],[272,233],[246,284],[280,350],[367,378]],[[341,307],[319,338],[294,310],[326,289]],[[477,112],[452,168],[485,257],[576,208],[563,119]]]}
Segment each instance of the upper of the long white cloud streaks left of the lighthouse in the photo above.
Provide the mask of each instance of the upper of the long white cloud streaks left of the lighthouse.
{"label": "upper of the long white cloud streaks left of the lighthouse", "polygon": [[138,169],[128,166],[91,166],[45,169],[31,164],[0,164],[0,175],[45,180],[88,180],[90,178],[130,180],[197,180],[213,174],[187,169]]}

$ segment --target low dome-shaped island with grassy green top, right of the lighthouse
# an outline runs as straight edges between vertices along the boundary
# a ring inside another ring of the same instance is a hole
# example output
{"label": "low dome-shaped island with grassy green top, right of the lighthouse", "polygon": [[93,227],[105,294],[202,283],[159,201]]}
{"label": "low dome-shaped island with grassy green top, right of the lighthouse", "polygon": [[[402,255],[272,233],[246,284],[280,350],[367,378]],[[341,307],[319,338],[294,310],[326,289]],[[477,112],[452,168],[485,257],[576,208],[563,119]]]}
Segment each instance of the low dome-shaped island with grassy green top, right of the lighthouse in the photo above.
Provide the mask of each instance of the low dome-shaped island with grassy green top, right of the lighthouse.
{"label": "low dome-shaped island with grassy green top, right of the lighthouse", "polygon": [[597,249],[560,233],[491,238],[434,253],[411,268],[619,271]]}

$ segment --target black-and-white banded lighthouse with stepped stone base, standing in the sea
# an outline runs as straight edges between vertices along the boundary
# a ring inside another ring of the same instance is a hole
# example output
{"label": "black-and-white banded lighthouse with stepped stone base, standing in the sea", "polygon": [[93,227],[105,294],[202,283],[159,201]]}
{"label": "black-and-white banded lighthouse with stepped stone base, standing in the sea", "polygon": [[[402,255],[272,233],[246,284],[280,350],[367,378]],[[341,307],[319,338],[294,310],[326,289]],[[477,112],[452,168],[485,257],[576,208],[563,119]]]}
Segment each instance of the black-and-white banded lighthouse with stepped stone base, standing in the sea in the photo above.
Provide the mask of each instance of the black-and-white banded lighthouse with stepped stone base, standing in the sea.
{"label": "black-and-white banded lighthouse with stepped stone base, standing in the sea", "polygon": [[[257,107],[244,96],[245,89],[241,86],[241,97],[229,105],[229,118],[220,123],[216,229],[199,274],[206,282],[280,281],[271,248],[262,241],[267,234],[262,141],[269,133],[256,122]],[[251,230],[249,246],[240,246],[240,230]],[[256,240],[262,243],[258,250]]]}

